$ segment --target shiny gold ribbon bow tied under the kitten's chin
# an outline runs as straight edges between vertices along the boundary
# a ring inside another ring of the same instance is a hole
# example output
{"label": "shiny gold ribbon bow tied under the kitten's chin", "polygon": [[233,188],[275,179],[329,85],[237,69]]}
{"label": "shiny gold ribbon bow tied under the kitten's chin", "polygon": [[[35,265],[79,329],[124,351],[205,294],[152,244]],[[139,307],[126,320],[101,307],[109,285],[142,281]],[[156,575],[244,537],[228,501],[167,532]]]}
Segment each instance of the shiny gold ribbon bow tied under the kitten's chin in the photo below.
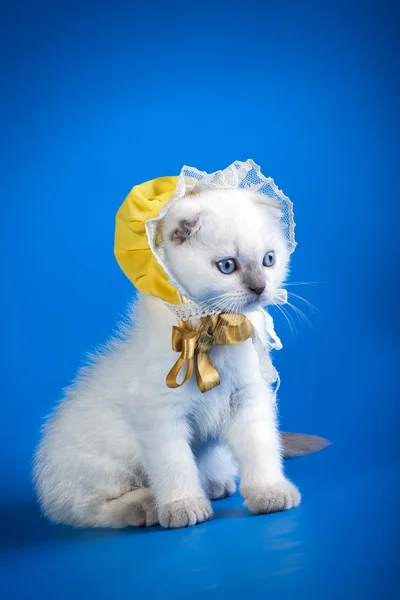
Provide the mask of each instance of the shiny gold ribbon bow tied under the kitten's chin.
{"label": "shiny gold ribbon bow tied under the kitten's chin", "polygon": [[[177,388],[189,381],[196,368],[197,385],[202,393],[219,385],[217,369],[210,362],[207,352],[212,346],[240,344],[251,337],[251,323],[244,315],[213,315],[204,317],[198,329],[191,329],[187,321],[179,321],[172,329],[172,348],[181,355],[167,375],[167,386]],[[188,362],[184,380],[177,378]]]}

